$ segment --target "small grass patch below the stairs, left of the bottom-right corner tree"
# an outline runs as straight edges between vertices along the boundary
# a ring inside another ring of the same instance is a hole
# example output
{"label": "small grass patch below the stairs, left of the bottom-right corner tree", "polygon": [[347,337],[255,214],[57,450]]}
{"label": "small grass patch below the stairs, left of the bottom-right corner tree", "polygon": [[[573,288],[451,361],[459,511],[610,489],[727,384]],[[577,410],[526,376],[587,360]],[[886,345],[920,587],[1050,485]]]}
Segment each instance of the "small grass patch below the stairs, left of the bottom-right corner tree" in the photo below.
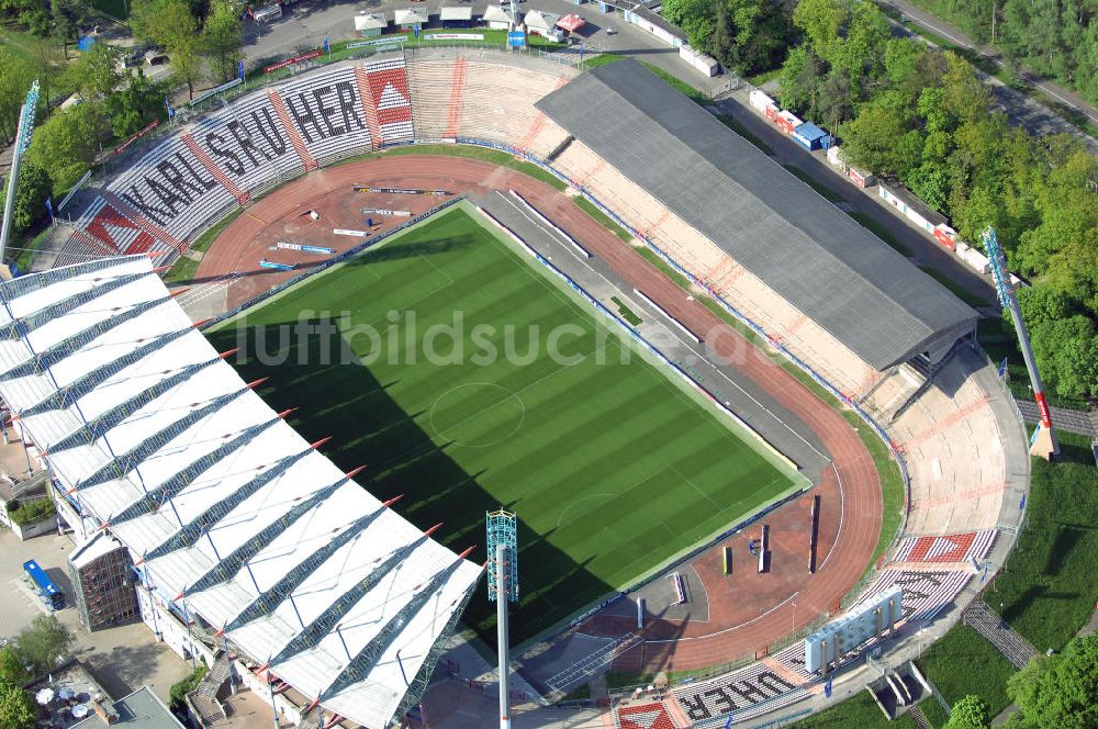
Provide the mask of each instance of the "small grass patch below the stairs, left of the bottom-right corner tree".
{"label": "small grass patch below the stairs, left of the bottom-right corner tree", "polygon": [[1015,666],[966,625],[950,628],[916,663],[950,706],[965,694],[978,694],[987,702],[991,716],[1010,704],[1007,678],[1013,674]]}

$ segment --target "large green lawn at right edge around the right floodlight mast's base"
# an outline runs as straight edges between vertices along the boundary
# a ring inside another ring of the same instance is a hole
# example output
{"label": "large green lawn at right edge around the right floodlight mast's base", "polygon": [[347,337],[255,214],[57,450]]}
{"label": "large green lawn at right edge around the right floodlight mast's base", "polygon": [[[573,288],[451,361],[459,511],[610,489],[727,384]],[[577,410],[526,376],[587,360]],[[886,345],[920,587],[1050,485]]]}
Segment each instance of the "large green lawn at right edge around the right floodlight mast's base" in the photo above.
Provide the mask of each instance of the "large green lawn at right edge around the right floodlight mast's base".
{"label": "large green lawn at right edge around the right floodlight mast's base", "polygon": [[1098,602],[1098,468],[1088,438],[1058,437],[1057,461],[1032,459],[1024,530],[987,593],[1039,651],[1062,650]]}

